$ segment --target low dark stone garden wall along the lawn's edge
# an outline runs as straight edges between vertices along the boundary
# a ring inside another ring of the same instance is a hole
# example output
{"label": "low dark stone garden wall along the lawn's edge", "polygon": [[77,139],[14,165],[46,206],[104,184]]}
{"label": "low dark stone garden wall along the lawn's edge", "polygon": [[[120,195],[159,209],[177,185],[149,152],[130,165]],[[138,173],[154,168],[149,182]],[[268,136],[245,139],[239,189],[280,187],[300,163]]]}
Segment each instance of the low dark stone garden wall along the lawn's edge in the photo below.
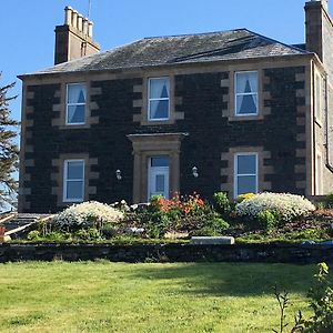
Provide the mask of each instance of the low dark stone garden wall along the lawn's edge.
{"label": "low dark stone garden wall along the lawn's edge", "polygon": [[85,261],[105,259],[113,262],[333,262],[333,245],[282,244],[0,244],[0,262]]}

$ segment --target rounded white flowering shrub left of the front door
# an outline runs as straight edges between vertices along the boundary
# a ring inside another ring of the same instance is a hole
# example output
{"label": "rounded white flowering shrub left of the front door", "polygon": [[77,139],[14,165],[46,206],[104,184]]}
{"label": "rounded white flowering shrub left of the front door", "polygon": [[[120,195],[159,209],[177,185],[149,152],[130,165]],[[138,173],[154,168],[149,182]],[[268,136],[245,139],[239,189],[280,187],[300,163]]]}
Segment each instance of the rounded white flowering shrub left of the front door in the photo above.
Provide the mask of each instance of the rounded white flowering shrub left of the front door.
{"label": "rounded white flowering shrub left of the front door", "polygon": [[101,226],[105,222],[117,223],[124,218],[124,213],[108,204],[87,201],[73,204],[57,214],[52,222],[59,228]]}

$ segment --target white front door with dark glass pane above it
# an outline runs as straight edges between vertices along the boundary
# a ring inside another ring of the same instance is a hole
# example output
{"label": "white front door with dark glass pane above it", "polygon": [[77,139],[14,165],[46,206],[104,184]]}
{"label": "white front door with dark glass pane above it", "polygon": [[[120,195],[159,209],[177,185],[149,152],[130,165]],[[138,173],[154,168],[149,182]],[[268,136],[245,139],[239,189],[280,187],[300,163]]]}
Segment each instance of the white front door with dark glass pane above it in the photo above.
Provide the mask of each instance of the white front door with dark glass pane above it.
{"label": "white front door with dark glass pane above it", "polygon": [[168,155],[149,158],[148,200],[152,195],[163,195],[169,199],[169,164]]}

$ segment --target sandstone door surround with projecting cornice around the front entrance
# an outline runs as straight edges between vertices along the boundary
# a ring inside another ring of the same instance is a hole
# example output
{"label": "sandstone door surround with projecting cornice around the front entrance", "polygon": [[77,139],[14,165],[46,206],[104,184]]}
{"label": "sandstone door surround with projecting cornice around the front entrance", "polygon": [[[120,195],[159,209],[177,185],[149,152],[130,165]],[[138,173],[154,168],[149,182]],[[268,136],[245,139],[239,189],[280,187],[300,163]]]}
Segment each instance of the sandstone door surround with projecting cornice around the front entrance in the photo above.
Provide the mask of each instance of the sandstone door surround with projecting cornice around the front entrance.
{"label": "sandstone door surround with projecting cornice around the front entrance", "polygon": [[180,190],[180,149],[182,139],[188,133],[130,134],[133,145],[133,203],[147,202],[148,162],[153,155],[170,158],[170,198]]}

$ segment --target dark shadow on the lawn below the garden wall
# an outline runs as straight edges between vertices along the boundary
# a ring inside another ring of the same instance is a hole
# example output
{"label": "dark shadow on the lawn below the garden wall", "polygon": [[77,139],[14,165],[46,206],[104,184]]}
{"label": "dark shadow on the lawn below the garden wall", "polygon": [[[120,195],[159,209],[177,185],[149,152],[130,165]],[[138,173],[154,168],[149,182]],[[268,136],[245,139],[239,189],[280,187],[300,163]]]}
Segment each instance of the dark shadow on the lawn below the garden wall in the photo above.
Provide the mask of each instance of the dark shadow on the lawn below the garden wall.
{"label": "dark shadow on the lawn below the garden wall", "polygon": [[[145,264],[135,270],[135,279],[161,280],[172,292],[210,295],[264,295],[272,286],[306,294],[313,283],[315,265],[191,263]],[[171,283],[170,280],[173,280]]]}

